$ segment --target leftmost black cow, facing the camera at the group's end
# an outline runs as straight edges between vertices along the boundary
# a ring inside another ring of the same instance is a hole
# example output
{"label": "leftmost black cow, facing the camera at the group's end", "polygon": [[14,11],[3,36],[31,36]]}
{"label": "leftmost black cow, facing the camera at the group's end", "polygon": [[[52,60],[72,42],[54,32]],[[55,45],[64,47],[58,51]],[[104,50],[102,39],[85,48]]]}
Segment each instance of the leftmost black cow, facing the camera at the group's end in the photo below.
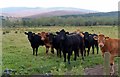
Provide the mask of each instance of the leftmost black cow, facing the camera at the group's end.
{"label": "leftmost black cow, facing the camera at the group's end", "polygon": [[36,56],[37,56],[37,52],[38,52],[38,47],[41,45],[43,46],[44,45],[44,42],[41,40],[41,37],[38,36],[37,34],[35,33],[32,33],[32,32],[25,32],[25,34],[28,36],[28,40],[31,44],[31,47],[33,49],[33,55],[35,54],[35,51],[36,51]]}

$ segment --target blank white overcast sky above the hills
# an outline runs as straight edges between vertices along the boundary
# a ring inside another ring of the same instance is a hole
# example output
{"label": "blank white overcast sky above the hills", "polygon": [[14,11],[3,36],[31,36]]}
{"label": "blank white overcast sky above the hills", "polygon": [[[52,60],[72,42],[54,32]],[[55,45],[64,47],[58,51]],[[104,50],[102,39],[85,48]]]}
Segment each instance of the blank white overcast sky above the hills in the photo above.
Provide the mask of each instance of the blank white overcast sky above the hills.
{"label": "blank white overcast sky above the hills", "polygon": [[[2,2],[1,2],[2,1]],[[5,7],[75,7],[100,12],[118,10],[120,0],[1,0],[0,8]]]}

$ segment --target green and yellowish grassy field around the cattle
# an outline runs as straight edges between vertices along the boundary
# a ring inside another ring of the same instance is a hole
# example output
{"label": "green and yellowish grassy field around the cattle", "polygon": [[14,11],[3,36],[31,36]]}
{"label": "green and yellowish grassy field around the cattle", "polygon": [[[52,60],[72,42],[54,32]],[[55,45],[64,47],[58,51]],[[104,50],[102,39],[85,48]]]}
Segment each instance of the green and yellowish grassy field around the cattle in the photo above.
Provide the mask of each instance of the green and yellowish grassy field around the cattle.
{"label": "green and yellowish grassy field around the cattle", "polygon": [[[2,39],[2,70],[13,69],[16,70],[17,75],[34,75],[34,74],[53,74],[53,75],[84,75],[84,68],[94,67],[98,64],[103,64],[103,58],[99,50],[99,54],[85,57],[82,62],[81,56],[77,61],[71,57],[71,64],[63,62],[63,57],[59,58],[55,54],[49,52],[45,53],[45,47],[39,47],[38,56],[32,55],[32,48],[24,34],[24,31],[33,32],[53,32],[61,29],[73,32],[77,29],[81,31],[88,31],[90,33],[104,33],[106,36],[118,38],[118,28],[115,26],[97,26],[97,27],[39,27],[39,28],[10,28],[3,29]],[[96,51],[96,50],[95,50]],[[116,60],[117,61],[117,60]]]}

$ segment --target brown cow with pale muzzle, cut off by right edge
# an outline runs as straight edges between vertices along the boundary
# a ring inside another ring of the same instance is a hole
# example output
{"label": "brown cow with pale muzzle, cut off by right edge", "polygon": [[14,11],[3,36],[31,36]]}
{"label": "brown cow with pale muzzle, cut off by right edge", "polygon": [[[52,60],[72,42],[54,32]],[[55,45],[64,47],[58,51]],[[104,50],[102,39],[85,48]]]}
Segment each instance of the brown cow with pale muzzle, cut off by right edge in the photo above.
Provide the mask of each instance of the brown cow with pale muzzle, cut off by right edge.
{"label": "brown cow with pale muzzle, cut off by right edge", "polygon": [[102,51],[102,56],[104,57],[105,52],[110,53],[110,74],[114,74],[114,57],[120,56],[120,39],[105,37],[103,34],[98,35],[97,39]]}

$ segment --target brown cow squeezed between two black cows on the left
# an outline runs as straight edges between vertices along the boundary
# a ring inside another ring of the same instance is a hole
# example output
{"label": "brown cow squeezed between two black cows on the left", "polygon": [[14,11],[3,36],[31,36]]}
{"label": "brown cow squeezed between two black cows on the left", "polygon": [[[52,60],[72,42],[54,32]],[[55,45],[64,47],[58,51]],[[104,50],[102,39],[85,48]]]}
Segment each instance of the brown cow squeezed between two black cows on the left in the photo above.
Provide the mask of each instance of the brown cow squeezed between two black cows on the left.
{"label": "brown cow squeezed between two black cows on the left", "polygon": [[46,53],[48,53],[49,48],[51,47],[51,52],[54,54],[54,49],[53,49],[52,45],[50,44],[49,38],[47,37],[48,33],[41,32],[41,33],[38,33],[38,35],[41,36],[41,40],[44,41],[44,43],[45,43]]}

